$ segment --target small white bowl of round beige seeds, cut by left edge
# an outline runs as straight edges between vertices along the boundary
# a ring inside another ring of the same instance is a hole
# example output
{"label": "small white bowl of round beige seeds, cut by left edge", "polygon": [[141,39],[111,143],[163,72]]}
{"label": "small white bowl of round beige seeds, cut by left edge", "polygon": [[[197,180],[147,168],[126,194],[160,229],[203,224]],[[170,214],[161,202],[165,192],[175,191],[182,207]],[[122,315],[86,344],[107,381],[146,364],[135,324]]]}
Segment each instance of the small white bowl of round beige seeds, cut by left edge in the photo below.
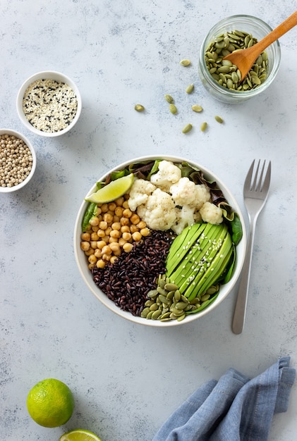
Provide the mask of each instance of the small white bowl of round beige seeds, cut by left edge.
{"label": "small white bowl of round beige seeds, cut by left edge", "polygon": [[29,139],[15,130],[0,129],[0,193],[20,190],[35,168],[35,150]]}

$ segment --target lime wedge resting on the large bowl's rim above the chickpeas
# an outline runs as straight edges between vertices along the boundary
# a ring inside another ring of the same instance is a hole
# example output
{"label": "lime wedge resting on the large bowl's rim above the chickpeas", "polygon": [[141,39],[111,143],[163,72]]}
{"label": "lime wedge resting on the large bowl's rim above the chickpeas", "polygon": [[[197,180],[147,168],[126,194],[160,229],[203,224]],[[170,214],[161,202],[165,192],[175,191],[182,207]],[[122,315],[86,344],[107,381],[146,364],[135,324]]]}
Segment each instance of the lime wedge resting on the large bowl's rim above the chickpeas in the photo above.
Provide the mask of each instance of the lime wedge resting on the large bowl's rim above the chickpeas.
{"label": "lime wedge resting on the large bowl's rim above the chickpeas", "polygon": [[106,204],[107,202],[115,201],[130,190],[133,180],[133,173],[131,173],[131,175],[122,176],[122,178],[104,185],[104,187],[97,190],[97,192],[89,194],[89,196],[85,197],[85,201],[95,202],[95,204]]}

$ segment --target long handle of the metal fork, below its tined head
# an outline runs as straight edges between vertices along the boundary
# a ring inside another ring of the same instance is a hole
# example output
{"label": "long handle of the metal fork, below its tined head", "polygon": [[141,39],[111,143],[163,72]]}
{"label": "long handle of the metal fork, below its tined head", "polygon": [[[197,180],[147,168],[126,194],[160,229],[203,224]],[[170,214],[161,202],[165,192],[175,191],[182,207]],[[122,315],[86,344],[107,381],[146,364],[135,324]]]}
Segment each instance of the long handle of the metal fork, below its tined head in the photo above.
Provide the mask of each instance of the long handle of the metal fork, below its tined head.
{"label": "long handle of the metal fork, below its tined head", "polygon": [[241,272],[241,281],[238,288],[236,306],[234,310],[232,331],[234,334],[241,334],[246,321],[246,305],[248,303],[248,285],[250,282],[250,266],[253,255],[253,244],[255,237],[255,224],[257,217],[250,219],[250,231],[248,235],[248,244],[246,247],[246,256]]}

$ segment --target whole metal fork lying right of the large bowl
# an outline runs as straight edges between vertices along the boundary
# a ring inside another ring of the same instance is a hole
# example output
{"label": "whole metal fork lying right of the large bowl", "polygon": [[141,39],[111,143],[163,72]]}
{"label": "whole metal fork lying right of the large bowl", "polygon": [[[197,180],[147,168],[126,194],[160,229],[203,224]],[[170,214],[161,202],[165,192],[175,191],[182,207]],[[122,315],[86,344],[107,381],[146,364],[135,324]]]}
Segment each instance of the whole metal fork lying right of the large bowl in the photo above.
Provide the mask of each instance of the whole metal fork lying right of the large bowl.
{"label": "whole metal fork lying right of the large bowl", "polygon": [[260,161],[257,163],[257,168],[255,168],[255,171],[254,168],[255,159],[250,166],[250,170],[248,170],[248,174],[246,175],[246,180],[243,186],[243,198],[246,205],[246,210],[248,211],[250,230],[248,234],[246,257],[243,263],[241,282],[239,284],[238,296],[232,322],[232,330],[234,334],[240,334],[243,331],[243,325],[246,320],[246,305],[248,301],[248,285],[250,281],[250,266],[253,254],[255,226],[257,223],[257,217],[259,216],[263,206],[265,206],[265,202],[267,200],[271,176],[271,162],[269,161],[267,171],[264,175],[264,161],[259,178],[258,174],[260,170]]}

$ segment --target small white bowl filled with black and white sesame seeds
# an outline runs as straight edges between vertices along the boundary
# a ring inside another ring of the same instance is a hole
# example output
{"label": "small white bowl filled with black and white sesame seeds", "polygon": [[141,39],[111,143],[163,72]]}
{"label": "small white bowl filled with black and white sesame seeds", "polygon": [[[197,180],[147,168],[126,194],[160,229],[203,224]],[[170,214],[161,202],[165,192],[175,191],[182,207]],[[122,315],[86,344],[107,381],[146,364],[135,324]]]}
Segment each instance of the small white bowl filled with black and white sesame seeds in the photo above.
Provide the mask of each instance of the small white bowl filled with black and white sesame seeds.
{"label": "small white bowl filled with black and white sesame seeds", "polygon": [[55,71],[32,75],[20,87],[18,116],[36,135],[56,137],[73,128],[80,117],[80,92],[71,78]]}

